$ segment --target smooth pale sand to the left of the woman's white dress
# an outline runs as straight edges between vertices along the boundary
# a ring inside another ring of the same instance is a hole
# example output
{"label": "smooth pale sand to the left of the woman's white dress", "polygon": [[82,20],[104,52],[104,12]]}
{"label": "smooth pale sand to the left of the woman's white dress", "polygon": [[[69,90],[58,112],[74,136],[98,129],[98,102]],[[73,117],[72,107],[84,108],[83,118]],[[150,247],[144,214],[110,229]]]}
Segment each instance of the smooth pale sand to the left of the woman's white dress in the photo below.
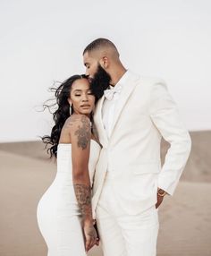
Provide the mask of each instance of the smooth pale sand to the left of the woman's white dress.
{"label": "smooth pale sand to the left of the woman's white dress", "polygon": [[36,208],[41,194],[54,178],[55,166],[4,151],[0,151],[0,162],[0,255],[45,255]]}

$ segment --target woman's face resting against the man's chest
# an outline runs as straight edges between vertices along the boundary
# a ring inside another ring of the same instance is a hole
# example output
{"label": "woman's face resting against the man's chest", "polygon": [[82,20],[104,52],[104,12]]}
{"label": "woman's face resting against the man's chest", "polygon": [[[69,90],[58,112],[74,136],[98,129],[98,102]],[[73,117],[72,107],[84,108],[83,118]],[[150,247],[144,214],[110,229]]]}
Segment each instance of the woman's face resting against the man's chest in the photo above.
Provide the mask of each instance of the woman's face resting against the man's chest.
{"label": "woman's face resting against the man's chest", "polygon": [[72,83],[69,103],[75,114],[89,115],[95,107],[95,96],[91,93],[89,81],[78,79]]}

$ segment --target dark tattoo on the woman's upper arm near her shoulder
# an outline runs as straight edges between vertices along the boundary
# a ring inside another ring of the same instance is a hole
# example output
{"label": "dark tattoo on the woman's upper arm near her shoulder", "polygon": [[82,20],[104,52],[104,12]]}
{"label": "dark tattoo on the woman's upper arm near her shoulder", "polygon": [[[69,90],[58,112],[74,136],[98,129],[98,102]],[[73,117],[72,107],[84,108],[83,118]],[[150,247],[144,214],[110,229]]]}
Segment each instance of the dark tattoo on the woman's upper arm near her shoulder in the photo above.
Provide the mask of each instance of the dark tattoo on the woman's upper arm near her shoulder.
{"label": "dark tattoo on the woman's upper arm near her shoulder", "polygon": [[81,149],[87,149],[90,140],[90,125],[86,116],[82,115],[81,123],[82,125],[79,126],[75,135],[78,136],[78,147]]}

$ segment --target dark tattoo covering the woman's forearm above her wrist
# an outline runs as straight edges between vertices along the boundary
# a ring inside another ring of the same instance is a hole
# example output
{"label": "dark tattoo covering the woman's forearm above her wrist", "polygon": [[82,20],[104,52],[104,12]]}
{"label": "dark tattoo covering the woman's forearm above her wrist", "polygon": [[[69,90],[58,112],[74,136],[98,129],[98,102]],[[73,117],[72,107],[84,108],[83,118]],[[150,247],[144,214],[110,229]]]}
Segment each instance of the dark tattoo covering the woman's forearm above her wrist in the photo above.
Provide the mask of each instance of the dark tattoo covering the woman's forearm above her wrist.
{"label": "dark tattoo covering the woman's forearm above her wrist", "polygon": [[80,206],[82,218],[92,217],[91,211],[91,188],[86,184],[74,184],[76,199]]}

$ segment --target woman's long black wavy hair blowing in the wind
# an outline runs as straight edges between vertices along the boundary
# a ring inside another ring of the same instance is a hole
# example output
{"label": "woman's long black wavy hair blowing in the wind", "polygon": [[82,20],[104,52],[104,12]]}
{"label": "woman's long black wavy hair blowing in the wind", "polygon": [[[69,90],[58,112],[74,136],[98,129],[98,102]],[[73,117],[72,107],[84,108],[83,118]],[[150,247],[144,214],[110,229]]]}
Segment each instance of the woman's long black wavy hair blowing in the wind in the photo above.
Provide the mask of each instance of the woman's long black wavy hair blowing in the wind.
{"label": "woman's long black wavy hair blowing in the wind", "polygon": [[49,110],[51,109],[51,107],[55,107],[55,105],[57,106],[55,112],[52,113],[55,125],[52,128],[51,135],[45,135],[42,137],[42,141],[46,144],[45,148],[47,149],[47,153],[50,154],[50,158],[57,157],[57,146],[59,143],[63,124],[65,123],[66,119],[71,115],[68,98],[70,98],[72,83],[79,79],[88,79],[88,77],[85,74],[72,75],[66,81],[63,81],[63,83],[57,89],[51,88],[51,91],[55,91],[55,104],[44,104],[44,107],[48,108]]}

